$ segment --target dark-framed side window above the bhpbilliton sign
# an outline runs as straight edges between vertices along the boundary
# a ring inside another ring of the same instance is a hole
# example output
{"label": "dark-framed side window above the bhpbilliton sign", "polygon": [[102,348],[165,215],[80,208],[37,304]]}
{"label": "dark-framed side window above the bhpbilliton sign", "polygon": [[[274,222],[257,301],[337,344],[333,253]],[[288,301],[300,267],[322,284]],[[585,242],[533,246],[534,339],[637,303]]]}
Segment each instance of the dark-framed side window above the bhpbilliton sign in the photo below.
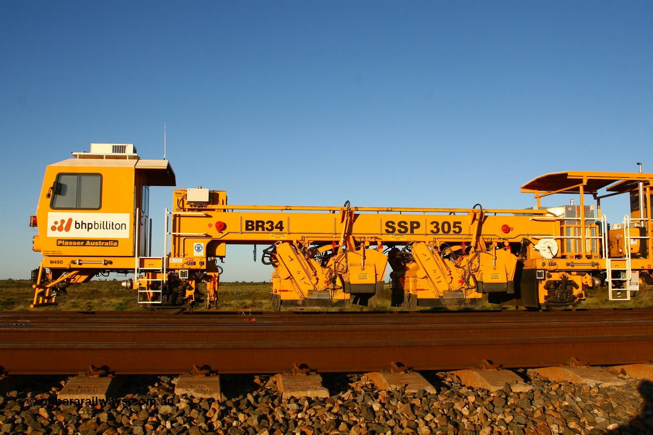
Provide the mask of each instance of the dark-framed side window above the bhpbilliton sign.
{"label": "dark-framed side window above the bhpbilliton sign", "polygon": [[101,206],[100,174],[58,174],[52,185],[51,208],[97,210]]}

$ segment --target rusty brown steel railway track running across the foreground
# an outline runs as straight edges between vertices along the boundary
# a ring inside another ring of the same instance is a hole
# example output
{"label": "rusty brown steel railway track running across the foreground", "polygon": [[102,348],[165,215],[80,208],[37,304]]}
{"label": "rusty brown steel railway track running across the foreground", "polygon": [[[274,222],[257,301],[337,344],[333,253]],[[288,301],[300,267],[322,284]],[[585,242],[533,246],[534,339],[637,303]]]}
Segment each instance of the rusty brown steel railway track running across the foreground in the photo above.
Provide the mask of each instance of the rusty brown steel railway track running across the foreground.
{"label": "rusty brown steel railway track running across the foreground", "polygon": [[0,312],[8,374],[453,370],[653,359],[653,310],[317,313]]}

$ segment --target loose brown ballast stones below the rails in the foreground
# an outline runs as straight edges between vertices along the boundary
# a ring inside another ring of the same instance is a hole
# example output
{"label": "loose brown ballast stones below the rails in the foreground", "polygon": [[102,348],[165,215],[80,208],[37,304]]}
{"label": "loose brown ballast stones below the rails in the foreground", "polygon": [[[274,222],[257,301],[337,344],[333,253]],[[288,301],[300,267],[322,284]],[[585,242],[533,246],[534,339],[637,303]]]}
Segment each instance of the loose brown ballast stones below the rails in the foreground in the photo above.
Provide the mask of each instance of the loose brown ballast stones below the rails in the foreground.
{"label": "loose brown ballast stones below the rails in the foreground", "polygon": [[[431,395],[423,391],[408,394],[404,389],[377,391],[372,382],[360,374],[347,375],[346,378],[323,375],[324,382],[333,385],[330,388],[334,395],[315,400],[282,399],[275,387],[275,376],[255,377],[254,381],[259,385],[255,391],[251,389],[249,377],[234,376],[230,379],[231,396],[225,402],[211,398],[182,398],[174,406],[125,406],[121,411],[110,406],[108,410],[75,405],[24,408],[20,398],[12,399],[18,396],[17,391],[12,391],[5,396],[5,402],[0,397],[0,433],[63,435],[74,430],[81,434],[118,435],[131,430],[133,434],[141,435],[328,435],[338,430],[350,435],[389,432],[417,435],[448,432],[459,435],[601,435],[614,428],[623,433],[628,433],[628,430],[638,433],[653,427],[653,414],[646,409],[646,398],[653,395],[652,383],[631,381],[621,387],[601,388],[551,383],[532,370],[528,370],[528,376],[534,386],[533,393],[489,393],[464,387],[451,374],[439,373],[427,377],[435,385],[441,385],[439,394]],[[127,396],[133,396],[131,393],[135,391],[150,391],[150,395],[161,395],[162,398],[172,395],[173,386],[170,378],[165,376],[159,377],[154,385],[151,385],[150,377],[134,376],[130,379],[129,391],[123,391],[129,393]],[[35,385],[31,385],[33,382]],[[26,391],[34,391],[32,397],[38,394],[33,389],[43,391],[40,379],[28,379],[25,383]],[[89,415],[89,411],[93,412],[93,417],[82,417]],[[349,418],[351,414],[355,418]],[[22,423],[18,423],[18,418]],[[35,429],[29,425],[35,425],[32,419],[40,423],[47,420],[50,424],[44,428],[36,425]]]}

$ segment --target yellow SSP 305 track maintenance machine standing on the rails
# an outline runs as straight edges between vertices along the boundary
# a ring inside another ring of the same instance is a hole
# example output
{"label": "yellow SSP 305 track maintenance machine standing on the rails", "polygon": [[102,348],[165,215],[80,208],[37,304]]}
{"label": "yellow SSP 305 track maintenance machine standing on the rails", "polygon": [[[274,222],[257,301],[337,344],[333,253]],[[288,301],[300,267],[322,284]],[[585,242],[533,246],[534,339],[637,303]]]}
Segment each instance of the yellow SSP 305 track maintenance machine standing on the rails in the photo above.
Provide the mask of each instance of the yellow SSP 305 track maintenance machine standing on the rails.
{"label": "yellow SSP 305 track maintenance machine standing on the rails", "polygon": [[[132,144],[91,144],[89,153],[46,169],[33,249],[33,307],[56,303],[73,283],[131,272],[138,301],[175,310],[217,304],[229,244],[264,246],[274,308],[375,306],[390,265],[392,306],[490,302],[564,310],[585,289],[607,285],[626,299],[650,283],[653,174],[558,172],[522,186],[537,205],[524,210],[261,206],[227,204],[225,191],[178,189],[165,212],[166,246],[151,253],[149,189],[176,185],[170,163],[144,160]],[[599,193],[605,189],[605,193]],[[552,194],[580,198],[544,207]],[[609,225],[602,198],[627,194],[629,216]],[[592,195],[596,205],[585,204]],[[169,243],[169,251],[168,251]]]}

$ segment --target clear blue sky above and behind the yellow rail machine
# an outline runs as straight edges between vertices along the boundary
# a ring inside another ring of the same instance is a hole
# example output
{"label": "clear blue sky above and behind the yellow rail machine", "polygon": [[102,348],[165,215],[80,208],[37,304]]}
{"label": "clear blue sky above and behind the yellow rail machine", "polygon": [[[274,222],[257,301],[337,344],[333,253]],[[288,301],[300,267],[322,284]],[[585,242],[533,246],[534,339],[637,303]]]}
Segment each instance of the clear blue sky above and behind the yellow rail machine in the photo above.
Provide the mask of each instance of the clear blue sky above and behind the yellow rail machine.
{"label": "clear blue sky above and behind the yellow rail machine", "polygon": [[[0,2],[0,278],[40,261],[46,165],[161,158],[163,123],[178,187],[231,204],[525,208],[547,172],[653,172],[651,23],[649,1]],[[272,272],[251,247],[224,266]]]}

